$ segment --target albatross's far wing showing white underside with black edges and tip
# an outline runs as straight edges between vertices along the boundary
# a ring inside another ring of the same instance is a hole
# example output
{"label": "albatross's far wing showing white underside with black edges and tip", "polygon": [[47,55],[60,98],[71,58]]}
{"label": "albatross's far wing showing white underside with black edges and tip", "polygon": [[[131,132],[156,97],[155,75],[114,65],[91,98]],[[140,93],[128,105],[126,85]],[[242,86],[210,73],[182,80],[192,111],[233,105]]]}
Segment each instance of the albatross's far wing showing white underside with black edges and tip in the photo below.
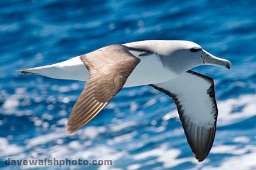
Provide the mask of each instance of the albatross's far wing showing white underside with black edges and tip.
{"label": "albatross's far wing showing white underside with black edges and tip", "polygon": [[218,116],[213,79],[187,71],[151,86],[174,99],[187,142],[196,159],[203,161],[213,146]]}

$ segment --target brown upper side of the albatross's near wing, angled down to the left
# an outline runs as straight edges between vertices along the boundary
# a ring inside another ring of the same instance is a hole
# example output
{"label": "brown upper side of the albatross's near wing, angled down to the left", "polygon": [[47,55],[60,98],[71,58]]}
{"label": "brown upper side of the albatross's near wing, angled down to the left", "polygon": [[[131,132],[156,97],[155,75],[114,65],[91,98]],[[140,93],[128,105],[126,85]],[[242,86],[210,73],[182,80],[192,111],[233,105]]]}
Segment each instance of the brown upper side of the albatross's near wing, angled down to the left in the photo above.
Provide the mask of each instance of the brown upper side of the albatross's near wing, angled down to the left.
{"label": "brown upper side of the albatross's near wing, angled down to the left", "polygon": [[109,45],[80,58],[89,70],[90,78],[70,114],[67,134],[91,121],[121,90],[140,61],[124,45]]}

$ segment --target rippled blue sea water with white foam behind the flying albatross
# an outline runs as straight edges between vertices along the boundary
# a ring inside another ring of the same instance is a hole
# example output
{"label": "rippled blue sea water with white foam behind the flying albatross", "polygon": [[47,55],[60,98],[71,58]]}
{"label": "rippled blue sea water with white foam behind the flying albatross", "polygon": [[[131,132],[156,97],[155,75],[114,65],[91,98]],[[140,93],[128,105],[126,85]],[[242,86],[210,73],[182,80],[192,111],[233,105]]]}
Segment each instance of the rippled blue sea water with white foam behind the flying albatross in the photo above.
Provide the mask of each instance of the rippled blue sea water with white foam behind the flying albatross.
{"label": "rippled blue sea water with white foam behind the flying albatross", "polygon": [[[112,160],[65,169],[256,169],[255,1],[0,1],[0,168],[5,160]],[[150,86],[122,89],[93,121],[66,135],[85,82],[26,76],[21,68],[54,64],[110,44],[190,40],[228,59],[231,70],[193,69],[213,77],[219,109],[207,159],[198,163],[171,98]]]}

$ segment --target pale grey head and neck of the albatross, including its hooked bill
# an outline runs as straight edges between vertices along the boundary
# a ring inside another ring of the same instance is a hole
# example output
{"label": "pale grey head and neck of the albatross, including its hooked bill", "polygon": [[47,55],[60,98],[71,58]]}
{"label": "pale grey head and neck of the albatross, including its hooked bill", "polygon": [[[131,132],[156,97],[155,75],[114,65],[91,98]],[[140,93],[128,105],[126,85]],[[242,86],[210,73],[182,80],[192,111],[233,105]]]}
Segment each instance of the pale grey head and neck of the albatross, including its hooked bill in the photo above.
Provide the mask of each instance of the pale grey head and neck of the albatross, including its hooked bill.
{"label": "pale grey head and neck of the albatross, including its hooked bill", "polygon": [[163,67],[177,74],[181,74],[199,65],[231,68],[230,61],[211,55],[194,42],[183,40],[146,40],[124,45],[130,49],[156,53]]}

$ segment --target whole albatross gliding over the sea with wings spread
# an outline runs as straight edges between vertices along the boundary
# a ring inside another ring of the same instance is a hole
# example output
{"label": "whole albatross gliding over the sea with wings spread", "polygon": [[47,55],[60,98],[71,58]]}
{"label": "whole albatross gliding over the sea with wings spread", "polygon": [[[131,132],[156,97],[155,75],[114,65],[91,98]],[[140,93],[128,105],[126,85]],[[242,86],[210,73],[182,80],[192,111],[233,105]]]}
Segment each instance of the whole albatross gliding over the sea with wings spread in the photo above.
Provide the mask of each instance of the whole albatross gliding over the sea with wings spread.
{"label": "whole albatross gliding over the sea with wings spread", "polygon": [[85,126],[123,87],[150,85],[173,98],[187,142],[198,161],[213,146],[218,116],[213,78],[191,68],[231,68],[200,45],[183,40],[114,44],[57,64],[19,70],[51,78],[87,81],[71,111],[66,133]]}

